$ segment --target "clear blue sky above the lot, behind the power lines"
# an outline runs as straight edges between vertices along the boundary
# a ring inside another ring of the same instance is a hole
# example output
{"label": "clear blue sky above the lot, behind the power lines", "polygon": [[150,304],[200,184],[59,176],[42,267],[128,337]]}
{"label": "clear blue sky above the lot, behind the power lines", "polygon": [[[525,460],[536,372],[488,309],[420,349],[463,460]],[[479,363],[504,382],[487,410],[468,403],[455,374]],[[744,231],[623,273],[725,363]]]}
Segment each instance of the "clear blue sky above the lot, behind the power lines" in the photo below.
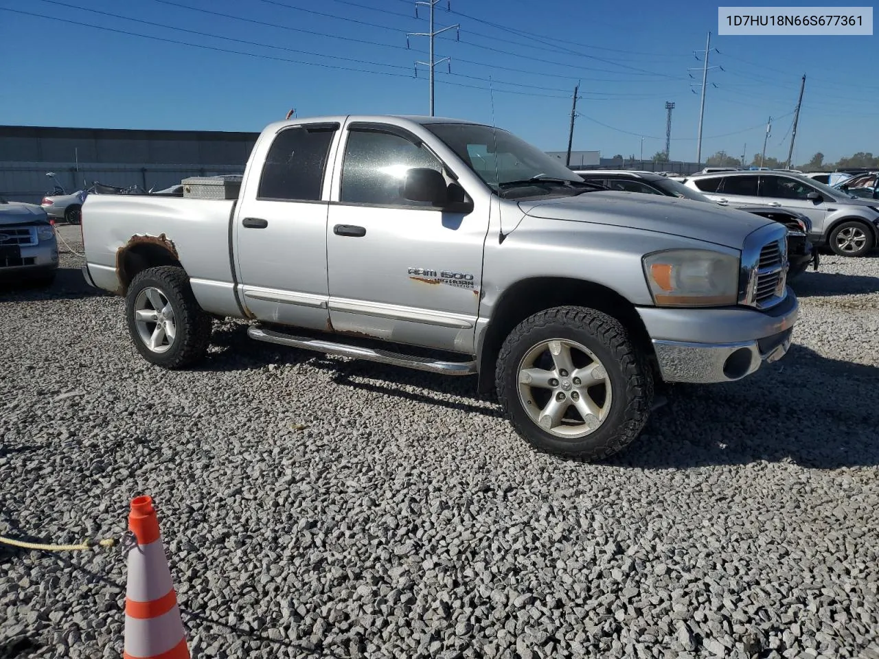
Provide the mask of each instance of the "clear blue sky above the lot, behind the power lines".
{"label": "clear blue sky above the lot, behind the power lines", "polygon": [[[298,116],[428,110],[426,69],[414,77],[427,40],[412,37],[406,49],[407,32],[427,31],[428,12],[415,18],[409,0],[0,0],[0,8],[54,18],[0,11],[0,124],[258,131],[291,107]],[[747,143],[750,161],[770,115],[766,155],[786,157],[803,73],[795,163],[818,150],[827,160],[879,152],[873,36],[718,37],[717,4],[706,2],[452,0],[451,9],[443,0],[436,11],[437,27],[461,25],[460,40],[454,30],[437,39],[452,72],[437,67],[440,116],[490,122],[491,78],[497,125],[562,150],[579,79],[575,149],[639,156],[644,135],[650,157],[665,148],[669,100],[672,159],[694,160],[699,96],[690,83],[701,71],[687,69],[701,67],[694,51],[711,31],[719,53],[709,63],[724,70],[708,74],[703,159],[720,149],[740,156]]]}

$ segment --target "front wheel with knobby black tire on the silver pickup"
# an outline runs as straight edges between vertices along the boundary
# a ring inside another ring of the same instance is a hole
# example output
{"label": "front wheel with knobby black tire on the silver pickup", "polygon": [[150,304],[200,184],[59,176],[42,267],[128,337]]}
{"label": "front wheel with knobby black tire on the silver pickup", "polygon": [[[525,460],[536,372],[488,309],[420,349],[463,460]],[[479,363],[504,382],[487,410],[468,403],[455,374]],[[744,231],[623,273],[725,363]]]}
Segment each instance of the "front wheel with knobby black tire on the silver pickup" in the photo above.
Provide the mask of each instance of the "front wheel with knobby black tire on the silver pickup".
{"label": "front wheel with knobby black tire on the silver pickup", "polygon": [[545,453],[600,460],[643,430],[650,367],[615,318],[556,307],[520,322],[501,347],[498,399],[513,428]]}

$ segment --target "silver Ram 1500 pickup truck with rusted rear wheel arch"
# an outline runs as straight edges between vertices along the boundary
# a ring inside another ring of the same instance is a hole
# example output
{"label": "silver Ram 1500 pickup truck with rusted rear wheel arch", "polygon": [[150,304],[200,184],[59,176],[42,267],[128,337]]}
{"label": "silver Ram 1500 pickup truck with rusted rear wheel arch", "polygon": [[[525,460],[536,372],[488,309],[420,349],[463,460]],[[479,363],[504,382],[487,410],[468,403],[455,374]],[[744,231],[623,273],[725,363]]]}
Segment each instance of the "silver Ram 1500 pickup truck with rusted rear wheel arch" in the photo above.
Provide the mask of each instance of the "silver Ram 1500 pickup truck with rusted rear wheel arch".
{"label": "silver Ram 1500 pickup truck with rusted rear wheel arch", "polygon": [[237,199],[91,195],[93,286],[126,297],[153,364],[202,358],[211,316],[259,341],[478,374],[550,453],[643,429],[654,382],[726,382],[788,351],[786,228],[687,199],[601,192],[462,120],[273,123]]}

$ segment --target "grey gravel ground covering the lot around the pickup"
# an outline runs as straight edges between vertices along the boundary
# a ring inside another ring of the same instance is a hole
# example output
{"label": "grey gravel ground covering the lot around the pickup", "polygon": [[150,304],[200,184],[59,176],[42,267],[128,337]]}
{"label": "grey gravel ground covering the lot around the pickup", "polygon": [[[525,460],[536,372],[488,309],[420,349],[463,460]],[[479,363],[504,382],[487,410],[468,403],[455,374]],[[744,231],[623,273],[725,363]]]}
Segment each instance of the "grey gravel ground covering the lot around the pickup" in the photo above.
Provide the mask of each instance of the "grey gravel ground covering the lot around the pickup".
{"label": "grey gravel ground covering the lot around the pickup", "polygon": [[[148,366],[62,264],[0,296],[0,533],[119,536],[151,494],[193,656],[879,657],[879,257],[825,257],[787,358],[592,465],[469,380],[238,322]],[[0,547],[0,656],[119,655],[125,569]]]}

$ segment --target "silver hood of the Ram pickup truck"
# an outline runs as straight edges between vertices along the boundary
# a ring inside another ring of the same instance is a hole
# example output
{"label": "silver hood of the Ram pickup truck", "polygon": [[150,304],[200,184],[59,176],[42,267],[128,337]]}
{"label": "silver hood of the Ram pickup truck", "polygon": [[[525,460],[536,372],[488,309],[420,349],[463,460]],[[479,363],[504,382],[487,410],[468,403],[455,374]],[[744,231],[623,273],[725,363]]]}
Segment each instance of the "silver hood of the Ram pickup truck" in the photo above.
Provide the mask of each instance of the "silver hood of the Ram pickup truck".
{"label": "silver hood of the Ram pickup truck", "polygon": [[576,197],[529,199],[519,208],[532,217],[592,222],[680,235],[741,250],[745,236],[771,220],[734,208],[641,192],[586,192]]}

